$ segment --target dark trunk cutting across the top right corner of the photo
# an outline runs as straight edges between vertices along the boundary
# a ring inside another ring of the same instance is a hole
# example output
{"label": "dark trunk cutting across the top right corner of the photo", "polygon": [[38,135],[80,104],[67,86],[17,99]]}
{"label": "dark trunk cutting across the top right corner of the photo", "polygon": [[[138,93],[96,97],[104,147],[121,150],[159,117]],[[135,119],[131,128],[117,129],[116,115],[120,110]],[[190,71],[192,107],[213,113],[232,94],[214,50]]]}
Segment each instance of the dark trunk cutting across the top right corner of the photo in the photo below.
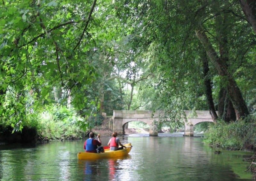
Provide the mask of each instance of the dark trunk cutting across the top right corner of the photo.
{"label": "dark trunk cutting across the top right corner of the photo", "polygon": [[252,29],[256,33],[256,1],[255,0],[240,0],[239,1],[244,15],[252,25]]}

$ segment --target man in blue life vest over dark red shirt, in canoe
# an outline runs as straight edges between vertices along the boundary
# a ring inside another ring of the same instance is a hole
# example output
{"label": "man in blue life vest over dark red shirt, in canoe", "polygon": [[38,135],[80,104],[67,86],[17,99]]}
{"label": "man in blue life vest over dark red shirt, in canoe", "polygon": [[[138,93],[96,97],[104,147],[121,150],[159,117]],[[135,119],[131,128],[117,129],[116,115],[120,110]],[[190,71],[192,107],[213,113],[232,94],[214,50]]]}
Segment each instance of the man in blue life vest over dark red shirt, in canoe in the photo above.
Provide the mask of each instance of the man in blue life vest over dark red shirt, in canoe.
{"label": "man in blue life vest over dark red shirt, in canoe", "polygon": [[[97,139],[97,140],[96,140]],[[97,138],[94,139],[94,133],[91,132],[89,134],[89,139],[87,139],[84,142],[84,149],[85,152],[88,153],[100,153],[104,152],[103,147],[101,146],[101,141],[100,141],[100,135],[98,134]]]}

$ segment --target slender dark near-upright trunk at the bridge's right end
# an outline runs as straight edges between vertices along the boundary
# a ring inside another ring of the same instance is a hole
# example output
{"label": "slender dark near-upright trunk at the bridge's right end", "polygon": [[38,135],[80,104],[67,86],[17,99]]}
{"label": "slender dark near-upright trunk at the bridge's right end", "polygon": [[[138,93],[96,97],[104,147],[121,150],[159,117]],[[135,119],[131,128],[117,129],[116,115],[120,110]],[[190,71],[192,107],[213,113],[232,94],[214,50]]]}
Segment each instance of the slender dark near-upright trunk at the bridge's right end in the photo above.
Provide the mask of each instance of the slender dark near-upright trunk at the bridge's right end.
{"label": "slender dark near-upright trunk at the bridge's right end", "polygon": [[211,86],[211,80],[209,79],[208,72],[209,72],[209,66],[208,66],[208,60],[207,60],[207,54],[204,51],[202,54],[201,60],[203,62],[204,66],[204,86],[205,86],[205,93],[206,93],[206,99],[209,107],[209,112],[212,116],[212,119],[214,122],[218,119],[218,115],[214,108],[214,103],[212,99],[212,86]]}

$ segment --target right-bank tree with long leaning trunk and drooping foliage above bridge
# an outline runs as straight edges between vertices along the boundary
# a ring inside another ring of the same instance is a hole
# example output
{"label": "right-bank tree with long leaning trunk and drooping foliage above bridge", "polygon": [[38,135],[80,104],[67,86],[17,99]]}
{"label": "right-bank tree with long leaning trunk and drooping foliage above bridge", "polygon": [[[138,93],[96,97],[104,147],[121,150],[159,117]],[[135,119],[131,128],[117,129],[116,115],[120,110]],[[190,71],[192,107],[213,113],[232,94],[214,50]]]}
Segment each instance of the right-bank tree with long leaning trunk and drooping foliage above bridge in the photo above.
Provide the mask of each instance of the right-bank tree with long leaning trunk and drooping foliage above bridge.
{"label": "right-bank tree with long leaning trunk and drooping foliage above bridge", "polygon": [[[190,91],[190,94],[197,92],[193,90],[194,86],[192,85],[200,77],[199,72],[193,71],[199,70],[199,63],[196,60],[199,56],[194,48],[198,42],[196,39],[198,39],[203,45],[203,49],[206,50],[211,64],[217,70],[221,82],[224,83],[223,86],[228,90],[228,97],[230,97],[236,110],[236,118],[241,119],[248,115],[243,95],[236,85],[235,79],[237,77],[234,76],[234,72],[236,72],[237,66],[239,66],[238,62],[240,61],[237,60],[240,59],[242,62],[244,58],[238,52],[243,52],[242,54],[247,53],[246,48],[244,49],[244,46],[247,44],[245,43],[246,39],[241,37],[249,38],[252,35],[247,29],[242,33],[241,28],[246,27],[246,22],[236,4],[222,1],[203,1],[198,3],[186,0],[160,0],[155,2],[142,2],[138,0],[133,1],[132,4],[120,6],[120,10],[123,12],[119,13],[123,20],[127,20],[126,17],[129,17],[129,21],[132,19],[131,26],[134,28],[132,33],[135,37],[133,40],[137,42],[136,45],[143,47],[144,51],[148,51],[148,48],[152,45],[156,49],[155,52],[157,52],[158,57],[155,60],[155,65],[159,68],[159,72],[164,75],[159,78],[163,87],[159,86],[158,90],[161,94],[164,93],[163,97],[165,99],[163,101],[165,103],[172,104],[171,100],[169,102],[172,95],[176,94],[175,97],[178,97],[177,92],[182,92],[184,95],[185,88],[189,86],[191,86],[191,89],[186,91]],[[133,14],[136,14],[136,16],[132,16]],[[215,17],[216,20],[214,21]],[[212,28],[213,23],[220,22],[218,18],[228,18],[227,21],[231,19],[232,21],[228,25],[230,29],[225,28],[227,24],[219,24],[216,25],[217,29],[215,28],[214,30]],[[194,31],[196,31],[196,36],[193,33]],[[207,36],[205,32],[209,35]],[[235,36],[234,32],[236,32]],[[220,34],[223,35],[216,41],[216,37]],[[230,42],[225,42],[227,39]],[[241,44],[238,45],[238,42]],[[201,51],[205,51],[203,49]],[[228,62],[228,67],[224,60],[226,63]],[[186,98],[188,101],[189,93],[186,94]],[[186,105],[185,102],[184,105]]]}

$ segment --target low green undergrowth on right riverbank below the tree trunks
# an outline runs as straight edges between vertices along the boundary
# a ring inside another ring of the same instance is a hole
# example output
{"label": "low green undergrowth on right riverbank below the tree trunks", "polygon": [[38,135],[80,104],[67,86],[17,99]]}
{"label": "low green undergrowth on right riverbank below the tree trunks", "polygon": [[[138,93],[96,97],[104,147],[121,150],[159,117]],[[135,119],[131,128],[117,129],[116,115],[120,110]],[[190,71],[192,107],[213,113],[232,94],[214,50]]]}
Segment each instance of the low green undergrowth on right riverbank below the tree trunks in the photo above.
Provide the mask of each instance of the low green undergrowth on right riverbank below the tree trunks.
{"label": "low green undergrowth on right riverbank below the tree trunks", "polygon": [[216,124],[210,125],[209,129],[205,132],[204,142],[229,150],[255,149],[256,119],[254,117],[250,120],[251,122],[243,120],[231,123],[218,120]]}

